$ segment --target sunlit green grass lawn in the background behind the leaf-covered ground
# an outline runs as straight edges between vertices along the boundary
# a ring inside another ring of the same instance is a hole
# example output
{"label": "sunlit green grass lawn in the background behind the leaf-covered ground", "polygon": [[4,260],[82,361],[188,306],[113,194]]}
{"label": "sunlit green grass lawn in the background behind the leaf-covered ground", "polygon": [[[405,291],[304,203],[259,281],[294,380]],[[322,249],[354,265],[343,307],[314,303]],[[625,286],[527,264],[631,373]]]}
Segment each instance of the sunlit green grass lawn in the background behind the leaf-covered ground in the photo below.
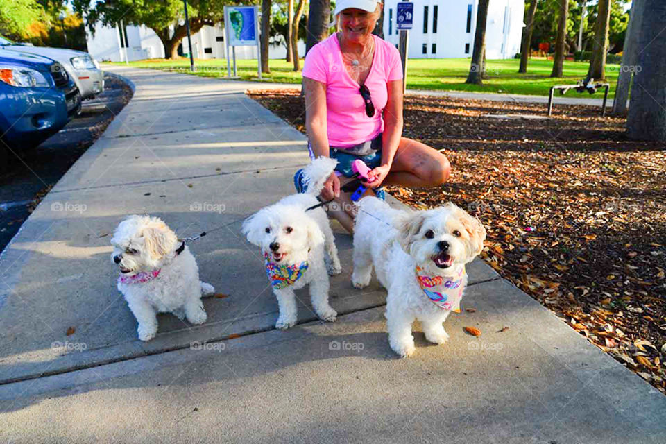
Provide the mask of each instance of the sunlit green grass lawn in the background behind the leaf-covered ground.
{"label": "sunlit green grass lawn in the background behind the leaf-covered ground", "polygon": [[[547,96],[552,85],[576,83],[588,72],[588,62],[565,61],[563,78],[550,78],[553,67],[552,60],[530,60],[527,74],[518,74],[517,59],[488,60],[488,79],[484,85],[466,85],[470,69],[470,59],[438,58],[411,59],[407,63],[407,88],[409,89],[441,89],[466,92],[502,92],[506,94],[531,94]],[[203,77],[225,77],[227,62],[223,59],[195,60],[198,68],[194,74]],[[124,65],[114,63],[113,65]],[[188,72],[189,59],[179,60],[148,59],[130,62],[139,68],[162,69],[164,71]],[[238,75],[241,80],[257,81],[257,60],[238,60]],[[270,62],[271,74],[264,74],[266,82],[300,83],[300,72],[293,72],[291,64],[284,60],[273,59]],[[610,80],[610,96],[615,94],[619,65],[607,65],[606,76]],[[588,97],[588,94],[569,92],[567,96]],[[595,94],[601,97],[601,92]]]}

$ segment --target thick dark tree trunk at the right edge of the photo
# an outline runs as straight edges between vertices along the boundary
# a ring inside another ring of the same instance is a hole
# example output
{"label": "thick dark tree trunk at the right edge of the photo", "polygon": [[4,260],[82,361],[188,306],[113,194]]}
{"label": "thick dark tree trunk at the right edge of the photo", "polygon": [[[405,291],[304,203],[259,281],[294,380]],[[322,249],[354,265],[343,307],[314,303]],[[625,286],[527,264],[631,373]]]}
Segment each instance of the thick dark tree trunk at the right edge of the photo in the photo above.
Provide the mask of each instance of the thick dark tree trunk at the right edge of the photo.
{"label": "thick dark tree trunk at the right edge of the photo", "polygon": [[659,34],[666,23],[666,1],[644,0],[637,66],[626,128],[629,137],[666,142],[666,44]]}

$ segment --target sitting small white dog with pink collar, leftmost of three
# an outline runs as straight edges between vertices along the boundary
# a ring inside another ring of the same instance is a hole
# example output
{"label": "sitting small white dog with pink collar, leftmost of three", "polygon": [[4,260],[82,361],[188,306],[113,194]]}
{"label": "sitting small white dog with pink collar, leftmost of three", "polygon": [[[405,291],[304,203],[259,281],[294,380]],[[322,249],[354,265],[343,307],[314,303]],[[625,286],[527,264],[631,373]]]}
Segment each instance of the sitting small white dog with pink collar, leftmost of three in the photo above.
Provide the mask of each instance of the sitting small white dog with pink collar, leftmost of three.
{"label": "sitting small white dog with pink collar, leftmost of three", "polygon": [[111,258],[121,273],[118,290],[137,318],[139,339],[155,337],[157,313],[205,323],[201,298],[212,296],[215,289],[199,280],[194,256],[162,219],[128,216],[116,228],[111,244]]}

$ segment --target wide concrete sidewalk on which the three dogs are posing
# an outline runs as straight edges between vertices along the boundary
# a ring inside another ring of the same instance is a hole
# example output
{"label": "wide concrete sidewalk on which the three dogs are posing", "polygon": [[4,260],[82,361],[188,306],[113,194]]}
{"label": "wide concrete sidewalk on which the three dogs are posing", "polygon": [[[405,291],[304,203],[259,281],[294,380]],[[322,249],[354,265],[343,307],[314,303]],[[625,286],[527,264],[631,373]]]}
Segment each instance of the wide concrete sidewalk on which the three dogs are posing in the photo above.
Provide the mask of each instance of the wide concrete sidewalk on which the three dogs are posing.
{"label": "wide concrete sidewalk on which the three dogs are posing", "polygon": [[[239,228],[293,192],[305,138],[239,83],[112,70],[133,100],[0,257],[2,441],[666,441],[666,397],[480,261],[463,299],[476,311],[450,317],[450,342],[417,333],[416,356],[395,359],[386,293],[351,287],[337,230],[339,321],[308,323],[306,303],[300,325],[273,330],[277,304]],[[228,295],[205,300],[204,325],[164,315],[156,339],[136,339],[108,245],[132,213],[180,236],[225,226],[191,244]]]}

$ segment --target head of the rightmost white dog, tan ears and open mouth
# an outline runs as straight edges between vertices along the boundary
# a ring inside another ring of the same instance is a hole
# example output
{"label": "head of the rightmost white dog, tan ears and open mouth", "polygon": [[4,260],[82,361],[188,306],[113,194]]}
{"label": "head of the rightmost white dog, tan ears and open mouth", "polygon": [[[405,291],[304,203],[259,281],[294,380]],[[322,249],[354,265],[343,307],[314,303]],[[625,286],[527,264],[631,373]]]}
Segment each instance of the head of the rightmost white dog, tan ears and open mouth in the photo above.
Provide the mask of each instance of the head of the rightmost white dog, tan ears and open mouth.
{"label": "head of the rightmost white dog, tan ears and open mouth", "polygon": [[483,225],[453,204],[412,214],[399,232],[402,248],[416,264],[438,275],[472,262],[486,239]]}

